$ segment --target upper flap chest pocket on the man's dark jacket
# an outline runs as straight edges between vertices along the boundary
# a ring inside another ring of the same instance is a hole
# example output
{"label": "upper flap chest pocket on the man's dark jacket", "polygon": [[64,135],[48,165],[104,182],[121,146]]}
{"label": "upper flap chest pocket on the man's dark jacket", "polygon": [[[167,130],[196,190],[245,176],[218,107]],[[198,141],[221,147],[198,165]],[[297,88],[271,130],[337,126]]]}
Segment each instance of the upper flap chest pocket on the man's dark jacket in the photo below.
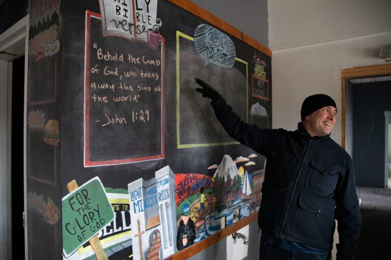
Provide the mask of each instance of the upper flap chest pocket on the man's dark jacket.
{"label": "upper flap chest pocket on the man's dark jacket", "polygon": [[319,160],[312,160],[307,187],[323,196],[330,196],[336,188],[340,167]]}

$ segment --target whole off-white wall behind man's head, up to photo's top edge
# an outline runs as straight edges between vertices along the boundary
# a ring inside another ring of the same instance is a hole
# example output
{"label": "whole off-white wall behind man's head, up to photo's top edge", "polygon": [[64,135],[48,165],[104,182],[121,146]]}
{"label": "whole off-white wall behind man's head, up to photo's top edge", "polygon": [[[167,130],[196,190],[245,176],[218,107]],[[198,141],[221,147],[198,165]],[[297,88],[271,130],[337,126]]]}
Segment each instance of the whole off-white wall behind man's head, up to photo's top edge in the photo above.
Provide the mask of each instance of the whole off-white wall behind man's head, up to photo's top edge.
{"label": "whole off-white wall behind man's head, up to photo's top edge", "polygon": [[[330,95],[341,110],[341,69],[383,64],[391,44],[389,0],[269,0],[273,127],[295,129],[306,96]],[[341,117],[331,137],[340,143]]]}

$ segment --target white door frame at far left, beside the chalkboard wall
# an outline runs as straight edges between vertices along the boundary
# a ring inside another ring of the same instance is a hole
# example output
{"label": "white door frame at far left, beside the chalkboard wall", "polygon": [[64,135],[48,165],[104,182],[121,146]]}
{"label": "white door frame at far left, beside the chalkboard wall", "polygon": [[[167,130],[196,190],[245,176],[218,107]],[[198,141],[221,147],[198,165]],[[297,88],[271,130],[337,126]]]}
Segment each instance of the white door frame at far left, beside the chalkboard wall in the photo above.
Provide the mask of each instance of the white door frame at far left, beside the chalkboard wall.
{"label": "white door frame at far left, beside the chalkboard wall", "polygon": [[[24,42],[24,101],[23,101],[23,200],[24,212],[27,212],[27,187],[26,187],[26,109],[27,109],[27,71],[29,60],[29,28],[30,15],[27,14],[6,31],[0,35],[0,51],[7,48],[13,48]],[[6,111],[0,115],[0,141],[5,142],[5,149],[0,151],[0,161],[5,167],[0,167],[0,179],[6,180],[5,183],[0,183],[2,191],[0,191],[0,199],[6,201],[5,211],[6,219],[0,219],[6,224],[6,232],[0,234],[0,240],[7,241],[5,252],[1,254],[4,259],[12,259],[12,217],[11,217],[11,115],[12,115],[12,60],[20,57],[15,56],[0,60],[0,66],[4,70],[0,77],[0,89],[4,90],[4,99],[6,102],[0,104],[0,109]],[[3,186],[4,185],[4,186]],[[3,188],[4,187],[4,188]],[[24,214],[24,252],[25,259],[28,259],[27,254],[27,214]]]}

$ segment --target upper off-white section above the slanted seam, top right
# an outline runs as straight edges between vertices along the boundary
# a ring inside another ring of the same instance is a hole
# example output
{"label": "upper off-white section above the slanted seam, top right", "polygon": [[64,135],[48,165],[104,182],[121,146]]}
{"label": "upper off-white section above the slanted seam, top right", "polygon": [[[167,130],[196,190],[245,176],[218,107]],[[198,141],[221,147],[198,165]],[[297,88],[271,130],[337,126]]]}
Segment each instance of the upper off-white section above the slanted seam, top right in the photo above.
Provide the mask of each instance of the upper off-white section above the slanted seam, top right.
{"label": "upper off-white section above the slanted seam, top right", "polygon": [[391,31],[391,1],[268,0],[268,17],[277,51]]}

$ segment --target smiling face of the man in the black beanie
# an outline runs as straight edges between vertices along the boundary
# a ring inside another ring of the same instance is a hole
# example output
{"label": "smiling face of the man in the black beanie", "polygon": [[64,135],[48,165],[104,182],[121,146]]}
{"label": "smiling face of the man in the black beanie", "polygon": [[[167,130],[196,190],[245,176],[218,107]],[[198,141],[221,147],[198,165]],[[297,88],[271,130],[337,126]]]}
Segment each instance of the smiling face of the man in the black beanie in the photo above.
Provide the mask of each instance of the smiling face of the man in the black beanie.
{"label": "smiling face of the man in the black beanie", "polygon": [[336,108],[332,106],[323,107],[306,116],[303,125],[311,137],[327,136],[336,123],[336,115]]}

